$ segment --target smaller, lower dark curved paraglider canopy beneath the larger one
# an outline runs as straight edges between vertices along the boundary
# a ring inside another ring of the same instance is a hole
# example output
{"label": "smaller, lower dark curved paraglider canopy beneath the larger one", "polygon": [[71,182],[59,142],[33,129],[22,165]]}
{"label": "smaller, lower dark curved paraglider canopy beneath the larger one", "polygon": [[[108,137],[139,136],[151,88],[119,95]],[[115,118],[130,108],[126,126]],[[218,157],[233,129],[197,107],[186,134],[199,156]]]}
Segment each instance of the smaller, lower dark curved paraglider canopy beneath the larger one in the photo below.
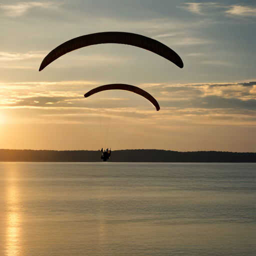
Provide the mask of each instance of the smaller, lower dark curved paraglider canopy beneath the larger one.
{"label": "smaller, lower dark curved paraglider canopy beneath the larger one", "polygon": [[149,100],[155,106],[157,111],[160,109],[160,106],[159,106],[158,102],[156,101],[156,99],[152,95],[150,95],[148,92],[140,89],[139,87],[136,87],[136,86],[133,86],[130,84],[124,84],[124,83],[112,83],[112,84],[101,85],[99,87],[96,87],[96,88],[86,92],[84,94],[84,97],[85,98],[89,97],[89,96],[93,95],[94,93],[97,93],[97,92],[100,92],[103,90],[128,90],[128,91],[134,92],[136,94],[139,94],[142,97]]}

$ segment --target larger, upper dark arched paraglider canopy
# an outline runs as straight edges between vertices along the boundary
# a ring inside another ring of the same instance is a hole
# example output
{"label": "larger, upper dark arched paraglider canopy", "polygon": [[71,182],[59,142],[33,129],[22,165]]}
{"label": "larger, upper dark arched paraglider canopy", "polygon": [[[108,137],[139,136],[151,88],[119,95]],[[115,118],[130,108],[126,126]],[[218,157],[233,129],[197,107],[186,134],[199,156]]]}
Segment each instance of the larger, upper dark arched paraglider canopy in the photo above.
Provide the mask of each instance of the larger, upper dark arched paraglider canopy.
{"label": "larger, upper dark arched paraglider canopy", "polygon": [[41,71],[44,67],[50,64],[55,59],[64,55],[67,52],[76,50],[85,46],[101,44],[101,43],[120,43],[128,44],[136,47],[140,47],[149,51],[152,51],[169,61],[173,62],[178,67],[183,67],[183,62],[179,55],[165,44],[146,37],[140,34],[128,33],[128,32],[99,32],[93,34],[86,34],[79,37],[75,37],[68,40],[55,49],[50,51],[42,60],[39,67]]}

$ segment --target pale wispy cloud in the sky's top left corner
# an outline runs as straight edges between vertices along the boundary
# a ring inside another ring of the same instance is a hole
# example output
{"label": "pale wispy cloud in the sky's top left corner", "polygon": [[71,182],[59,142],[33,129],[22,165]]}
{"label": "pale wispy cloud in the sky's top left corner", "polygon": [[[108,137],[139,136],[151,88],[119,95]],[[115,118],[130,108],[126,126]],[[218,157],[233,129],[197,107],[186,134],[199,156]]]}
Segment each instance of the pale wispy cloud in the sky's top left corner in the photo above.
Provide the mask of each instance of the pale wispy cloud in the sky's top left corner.
{"label": "pale wispy cloud in the sky's top left corner", "polygon": [[54,9],[59,4],[53,2],[18,2],[15,5],[0,5],[7,16],[20,16],[32,8]]}

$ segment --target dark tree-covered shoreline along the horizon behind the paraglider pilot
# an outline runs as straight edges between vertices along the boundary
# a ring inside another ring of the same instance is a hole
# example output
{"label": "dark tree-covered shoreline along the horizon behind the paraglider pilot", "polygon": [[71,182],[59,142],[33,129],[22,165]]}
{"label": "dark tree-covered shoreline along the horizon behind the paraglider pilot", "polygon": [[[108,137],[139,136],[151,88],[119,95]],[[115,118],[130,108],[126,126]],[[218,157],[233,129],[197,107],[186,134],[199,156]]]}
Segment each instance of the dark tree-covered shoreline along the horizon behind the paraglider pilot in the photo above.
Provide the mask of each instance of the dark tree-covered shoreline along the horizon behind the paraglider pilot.
{"label": "dark tree-covered shoreline along the horizon behind the paraglider pilot", "polygon": [[[0,161],[99,162],[101,152],[87,150],[0,149]],[[196,151],[178,152],[157,149],[112,151],[110,162],[256,162],[256,153]]]}

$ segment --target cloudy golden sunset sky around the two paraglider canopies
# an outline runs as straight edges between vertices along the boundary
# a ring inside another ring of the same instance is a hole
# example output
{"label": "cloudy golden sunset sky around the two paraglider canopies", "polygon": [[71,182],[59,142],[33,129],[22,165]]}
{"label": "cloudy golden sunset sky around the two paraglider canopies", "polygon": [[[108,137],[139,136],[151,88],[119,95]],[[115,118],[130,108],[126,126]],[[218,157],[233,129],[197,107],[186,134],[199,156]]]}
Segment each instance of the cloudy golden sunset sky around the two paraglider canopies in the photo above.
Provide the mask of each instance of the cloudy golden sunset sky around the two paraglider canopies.
{"label": "cloudy golden sunset sky around the two paraglider canopies", "polygon": [[[0,148],[256,151],[256,4],[222,0],[2,0]],[[150,51],[99,44],[38,71],[59,44],[102,31],[158,40],[179,68]],[[88,90],[126,83],[127,91]]]}

